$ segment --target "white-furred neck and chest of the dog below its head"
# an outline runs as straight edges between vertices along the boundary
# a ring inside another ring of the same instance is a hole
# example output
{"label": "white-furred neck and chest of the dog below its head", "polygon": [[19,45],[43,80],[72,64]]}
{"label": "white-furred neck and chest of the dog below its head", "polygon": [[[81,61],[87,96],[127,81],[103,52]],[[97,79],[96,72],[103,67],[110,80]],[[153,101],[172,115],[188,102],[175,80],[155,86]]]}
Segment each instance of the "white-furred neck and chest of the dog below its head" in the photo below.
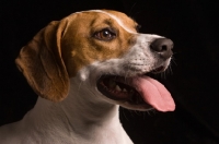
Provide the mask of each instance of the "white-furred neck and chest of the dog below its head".
{"label": "white-furred neck and chest of the dog below its head", "polygon": [[[99,100],[78,77],[68,97],[53,103],[38,97],[20,121],[0,130],[4,144],[131,144],[118,120],[118,106]],[[81,84],[80,84],[81,83]],[[88,100],[84,100],[88,99]],[[10,136],[9,136],[10,135]]]}

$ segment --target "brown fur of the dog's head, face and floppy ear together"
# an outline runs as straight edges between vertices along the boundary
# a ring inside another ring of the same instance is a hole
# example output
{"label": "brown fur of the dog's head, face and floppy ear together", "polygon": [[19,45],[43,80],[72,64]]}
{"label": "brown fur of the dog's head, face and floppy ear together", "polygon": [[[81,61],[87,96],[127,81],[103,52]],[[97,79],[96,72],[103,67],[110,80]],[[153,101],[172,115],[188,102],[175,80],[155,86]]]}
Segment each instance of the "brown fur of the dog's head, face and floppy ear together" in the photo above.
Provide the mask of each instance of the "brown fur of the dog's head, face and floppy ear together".
{"label": "brown fur of the dog's head, face and floppy ear together", "polygon": [[[123,13],[113,13],[135,31],[136,23]],[[104,41],[93,37],[103,28],[113,28],[116,37]],[[74,13],[51,22],[22,48],[16,64],[28,84],[42,97],[60,101],[69,91],[69,76],[94,61],[122,57],[135,41],[114,19],[100,12]]]}

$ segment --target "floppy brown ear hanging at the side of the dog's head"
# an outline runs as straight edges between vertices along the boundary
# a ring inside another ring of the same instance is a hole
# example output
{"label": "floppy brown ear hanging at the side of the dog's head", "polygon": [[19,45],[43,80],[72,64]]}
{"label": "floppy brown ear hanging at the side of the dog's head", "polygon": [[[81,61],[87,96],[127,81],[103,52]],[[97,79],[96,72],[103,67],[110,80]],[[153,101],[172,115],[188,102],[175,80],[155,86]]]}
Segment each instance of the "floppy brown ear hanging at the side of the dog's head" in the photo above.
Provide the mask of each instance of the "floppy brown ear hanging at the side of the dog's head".
{"label": "floppy brown ear hanging at the side of the dog's head", "polygon": [[61,58],[66,22],[51,22],[20,51],[15,63],[39,96],[60,101],[68,95],[69,75]]}

